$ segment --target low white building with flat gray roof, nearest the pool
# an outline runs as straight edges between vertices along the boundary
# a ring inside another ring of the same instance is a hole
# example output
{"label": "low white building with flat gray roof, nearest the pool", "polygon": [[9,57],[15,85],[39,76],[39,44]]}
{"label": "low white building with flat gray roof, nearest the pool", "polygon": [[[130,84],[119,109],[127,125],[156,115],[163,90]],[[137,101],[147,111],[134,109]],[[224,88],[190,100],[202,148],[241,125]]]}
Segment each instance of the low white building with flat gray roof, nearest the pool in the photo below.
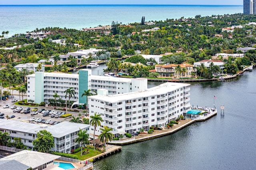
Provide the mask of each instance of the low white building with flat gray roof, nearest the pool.
{"label": "low white building with flat gray roof, nearest the pool", "polygon": [[81,130],[87,130],[89,133],[90,125],[82,123],[71,123],[63,121],[54,126],[38,125],[34,123],[26,123],[13,120],[0,120],[0,131],[9,133],[8,136],[11,140],[14,137],[21,138],[22,143],[27,149],[33,149],[32,142],[36,139],[36,134],[40,130],[46,130],[54,137],[54,148],[52,151],[70,153],[72,149],[79,147],[78,143],[75,143],[77,133]]}

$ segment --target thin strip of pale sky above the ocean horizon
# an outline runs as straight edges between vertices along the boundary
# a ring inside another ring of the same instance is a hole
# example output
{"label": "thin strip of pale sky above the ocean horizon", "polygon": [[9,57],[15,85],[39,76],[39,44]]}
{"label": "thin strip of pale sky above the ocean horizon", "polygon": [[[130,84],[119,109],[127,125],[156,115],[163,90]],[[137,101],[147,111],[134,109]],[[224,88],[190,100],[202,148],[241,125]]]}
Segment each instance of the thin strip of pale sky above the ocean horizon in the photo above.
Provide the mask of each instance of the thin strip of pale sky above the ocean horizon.
{"label": "thin strip of pale sky above the ocean horizon", "polygon": [[45,4],[242,5],[243,0],[0,0],[0,5]]}

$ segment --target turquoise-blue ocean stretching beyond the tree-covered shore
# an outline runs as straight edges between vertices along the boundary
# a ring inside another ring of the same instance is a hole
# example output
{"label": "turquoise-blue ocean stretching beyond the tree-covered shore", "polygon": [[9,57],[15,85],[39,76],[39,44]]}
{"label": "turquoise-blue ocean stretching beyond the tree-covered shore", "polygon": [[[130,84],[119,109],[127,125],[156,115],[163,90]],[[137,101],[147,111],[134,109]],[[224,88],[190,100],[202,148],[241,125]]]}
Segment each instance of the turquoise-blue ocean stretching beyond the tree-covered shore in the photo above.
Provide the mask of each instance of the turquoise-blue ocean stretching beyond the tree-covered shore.
{"label": "turquoise-blue ocean stretching beyond the tree-covered shore", "polygon": [[194,18],[242,13],[243,6],[206,5],[0,5],[0,33],[8,37],[38,28],[61,27],[81,30],[112,21],[128,24],[145,21]]}

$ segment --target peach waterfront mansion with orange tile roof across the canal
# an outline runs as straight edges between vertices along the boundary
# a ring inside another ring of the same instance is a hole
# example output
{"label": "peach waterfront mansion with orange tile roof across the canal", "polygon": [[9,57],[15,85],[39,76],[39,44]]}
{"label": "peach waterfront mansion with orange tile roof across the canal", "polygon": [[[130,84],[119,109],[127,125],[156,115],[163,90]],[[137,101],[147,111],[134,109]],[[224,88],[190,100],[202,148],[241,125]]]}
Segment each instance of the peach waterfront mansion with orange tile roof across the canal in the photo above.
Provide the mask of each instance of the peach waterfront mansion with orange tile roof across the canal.
{"label": "peach waterfront mansion with orange tile roof across the canal", "polygon": [[[180,68],[186,68],[186,72],[177,72],[176,67],[180,66]],[[183,64],[168,64],[168,65],[155,65],[154,70],[150,70],[150,72],[157,72],[159,73],[160,77],[191,77],[191,76],[196,76],[197,74],[197,69],[188,64],[188,63],[183,63]]]}

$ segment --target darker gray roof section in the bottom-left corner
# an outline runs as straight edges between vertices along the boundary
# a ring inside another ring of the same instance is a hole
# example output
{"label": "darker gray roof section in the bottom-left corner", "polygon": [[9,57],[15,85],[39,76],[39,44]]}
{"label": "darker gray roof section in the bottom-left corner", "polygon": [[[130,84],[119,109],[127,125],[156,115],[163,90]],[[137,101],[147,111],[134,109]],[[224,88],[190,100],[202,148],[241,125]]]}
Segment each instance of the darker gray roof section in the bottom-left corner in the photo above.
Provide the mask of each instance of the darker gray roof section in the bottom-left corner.
{"label": "darker gray roof section in the bottom-left corner", "polygon": [[27,170],[30,166],[16,160],[0,160],[0,170]]}

